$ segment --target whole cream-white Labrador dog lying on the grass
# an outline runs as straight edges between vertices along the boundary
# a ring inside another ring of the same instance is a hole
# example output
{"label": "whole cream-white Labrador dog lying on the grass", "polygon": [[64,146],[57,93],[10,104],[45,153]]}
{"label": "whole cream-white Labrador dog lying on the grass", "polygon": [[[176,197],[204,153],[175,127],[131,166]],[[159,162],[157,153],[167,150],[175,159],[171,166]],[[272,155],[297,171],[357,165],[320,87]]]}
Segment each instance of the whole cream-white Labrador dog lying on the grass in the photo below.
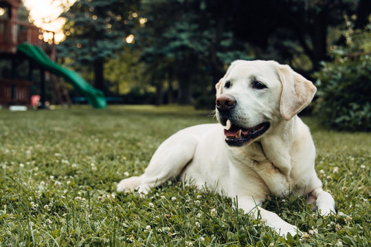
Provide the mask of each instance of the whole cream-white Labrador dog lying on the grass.
{"label": "whole cream-white Labrador dog lying on the grass", "polygon": [[[260,207],[269,194],[307,196],[322,215],[335,202],[315,173],[315,146],[308,127],[297,117],[313,99],[312,82],[288,65],[274,61],[231,64],[216,84],[216,117],[220,124],[180,130],[162,143],[142,176],[122,180],[117,191],[150,187],[170,178],[192,181],[230,198],[238,207],[280,235],[298,229]],[[225,126],[225,127],[223,127]]]}

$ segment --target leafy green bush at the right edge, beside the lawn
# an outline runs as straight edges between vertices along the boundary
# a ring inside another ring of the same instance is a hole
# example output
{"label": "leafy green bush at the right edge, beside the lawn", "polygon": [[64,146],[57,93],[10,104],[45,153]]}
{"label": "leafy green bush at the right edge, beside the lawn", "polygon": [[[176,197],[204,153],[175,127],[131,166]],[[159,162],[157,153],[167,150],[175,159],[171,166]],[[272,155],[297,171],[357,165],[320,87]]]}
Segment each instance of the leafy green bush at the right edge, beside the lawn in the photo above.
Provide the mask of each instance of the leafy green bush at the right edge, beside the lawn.
{"label": "leafy green bush at the right edge, beside the lawn", "polygon": [[336,130],[371,130],[371,25],[348,30],[345,47],[333,47],[333,62],[315,73],[319,99],[316,112]]}

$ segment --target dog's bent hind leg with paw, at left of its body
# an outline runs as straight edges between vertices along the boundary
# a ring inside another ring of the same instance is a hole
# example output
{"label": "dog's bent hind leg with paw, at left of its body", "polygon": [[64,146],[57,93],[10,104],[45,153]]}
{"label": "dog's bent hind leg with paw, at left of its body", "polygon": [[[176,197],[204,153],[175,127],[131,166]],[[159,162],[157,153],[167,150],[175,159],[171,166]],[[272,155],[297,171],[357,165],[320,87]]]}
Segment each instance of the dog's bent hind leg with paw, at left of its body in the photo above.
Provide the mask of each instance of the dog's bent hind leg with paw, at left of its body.
{"label": "dog's bent hind leg with paw, at left of its body", "polygon": [[197,135],[187,131],[172,135],[153,154],[144,174],[121,180],[117,192],[138,189],[141,193],[148,193],[151,187],[176,178],[192,160],[197,143]]}

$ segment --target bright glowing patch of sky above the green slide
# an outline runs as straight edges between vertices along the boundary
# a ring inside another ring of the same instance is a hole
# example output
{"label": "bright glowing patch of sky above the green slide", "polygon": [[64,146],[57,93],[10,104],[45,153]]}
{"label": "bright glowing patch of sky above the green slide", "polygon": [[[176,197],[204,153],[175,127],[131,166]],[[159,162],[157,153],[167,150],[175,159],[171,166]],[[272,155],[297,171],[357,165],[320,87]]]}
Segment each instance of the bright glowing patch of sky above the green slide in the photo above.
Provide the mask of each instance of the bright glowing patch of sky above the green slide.
{"label": "bright glowing patch of sky above the green slide", "polygon": [[30,21],[45,30],[56,32],[57,42],[64,38],[61,31],[65,20],[58,18],[64,8],[68,8],[76,0],[23,0],[25,7],[30,10]]}

